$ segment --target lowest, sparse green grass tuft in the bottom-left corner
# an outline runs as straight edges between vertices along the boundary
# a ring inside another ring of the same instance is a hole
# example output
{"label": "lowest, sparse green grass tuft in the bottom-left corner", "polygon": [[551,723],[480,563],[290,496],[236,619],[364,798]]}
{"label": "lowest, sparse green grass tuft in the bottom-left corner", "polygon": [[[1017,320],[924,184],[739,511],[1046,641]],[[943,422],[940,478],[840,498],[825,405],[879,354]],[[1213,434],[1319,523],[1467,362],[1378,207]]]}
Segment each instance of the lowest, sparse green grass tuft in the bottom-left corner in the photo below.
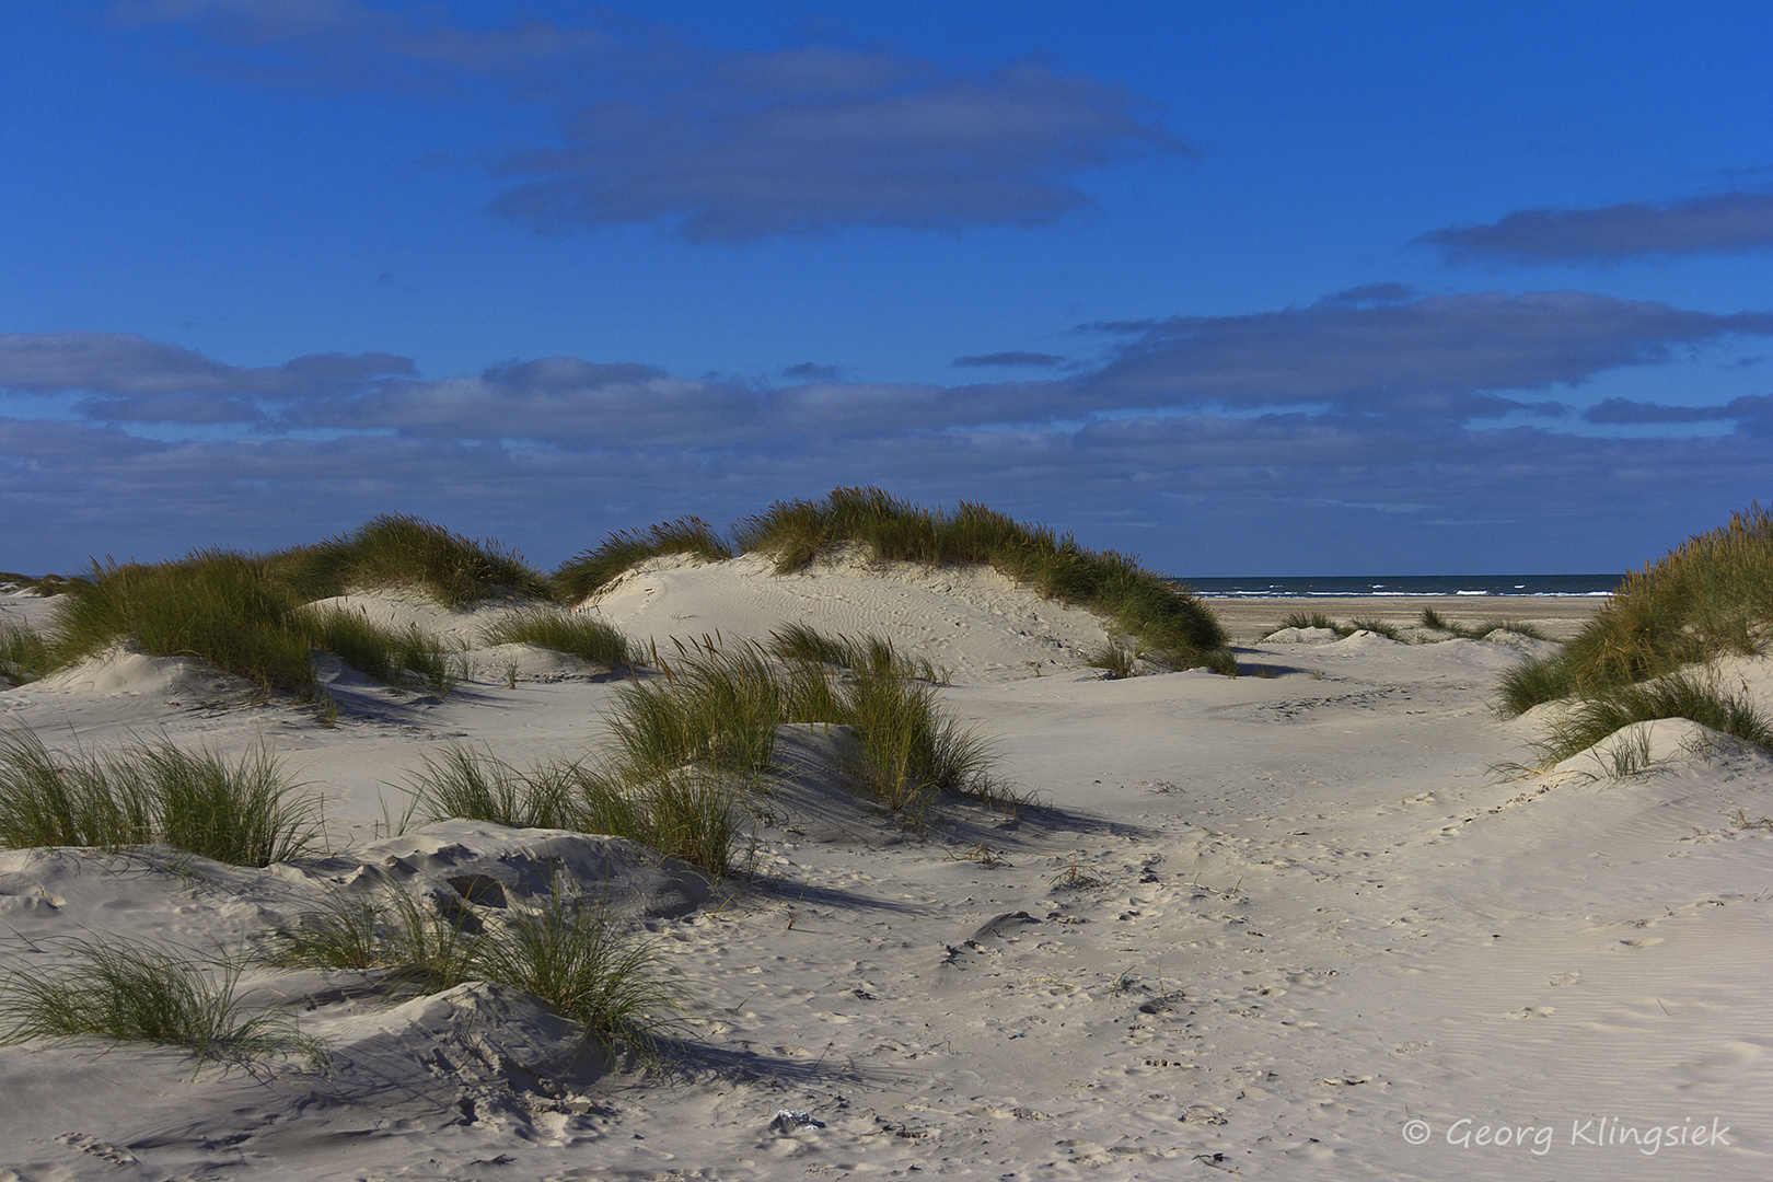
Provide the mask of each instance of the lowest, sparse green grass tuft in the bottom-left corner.
{"label": "lowest, sparse green grass tuft in the bottom-left corner", "polygon": [[184,1047],[199,1063],[273,1054],[321,1058],[314,1038],[277,1014],[241,1017],[239,969],[158,943],[69,939],[69,959],[0,978],[0,1042],[99,1035]]}

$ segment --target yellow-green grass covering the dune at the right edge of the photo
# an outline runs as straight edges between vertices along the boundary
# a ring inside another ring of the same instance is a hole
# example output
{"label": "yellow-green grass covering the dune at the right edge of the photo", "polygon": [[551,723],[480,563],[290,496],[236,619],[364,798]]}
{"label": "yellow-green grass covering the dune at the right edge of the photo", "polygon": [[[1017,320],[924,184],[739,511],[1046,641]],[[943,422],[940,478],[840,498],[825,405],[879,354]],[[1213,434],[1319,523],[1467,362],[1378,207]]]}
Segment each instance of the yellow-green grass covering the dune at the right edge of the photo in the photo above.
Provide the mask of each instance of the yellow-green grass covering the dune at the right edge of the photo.
{"label": "yellow-green grass covering the dune at the right edge of the photo", "polygon": [[1690,718],[1773,748],[1773,723],[1752,702],[1714,677],[1688,672],[1723,656],[1762,652],[1769,634],[1773,514],[1750,505],[1729,525],[1628,574],[1560,652],[1504,677],[1496,712],[1514,718],[1562,704],[1541,744],[1546,762],[1656,718]]}

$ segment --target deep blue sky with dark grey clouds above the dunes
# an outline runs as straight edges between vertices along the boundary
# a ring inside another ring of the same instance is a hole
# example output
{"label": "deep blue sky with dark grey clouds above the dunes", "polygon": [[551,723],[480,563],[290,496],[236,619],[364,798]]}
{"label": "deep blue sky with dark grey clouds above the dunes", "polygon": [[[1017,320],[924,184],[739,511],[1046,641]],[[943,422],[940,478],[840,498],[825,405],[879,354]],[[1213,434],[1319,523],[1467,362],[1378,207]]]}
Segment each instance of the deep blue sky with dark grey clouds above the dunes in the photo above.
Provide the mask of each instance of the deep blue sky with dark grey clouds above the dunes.
{"label": "deep blue sky with dark grey clouds above the dunes", "polygon": [[0,7],[0,567],[840,484],[1177,574],[1768,500],[1773,7]]}

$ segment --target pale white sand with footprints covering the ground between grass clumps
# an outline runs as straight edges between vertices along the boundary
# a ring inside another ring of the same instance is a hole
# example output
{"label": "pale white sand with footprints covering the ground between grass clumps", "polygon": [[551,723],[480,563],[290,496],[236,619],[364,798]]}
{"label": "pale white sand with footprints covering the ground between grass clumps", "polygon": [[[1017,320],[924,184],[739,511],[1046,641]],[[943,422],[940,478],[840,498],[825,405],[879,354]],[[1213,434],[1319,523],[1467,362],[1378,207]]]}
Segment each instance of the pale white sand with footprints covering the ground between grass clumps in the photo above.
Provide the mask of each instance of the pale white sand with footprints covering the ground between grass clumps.
{"label": "pale white sand with footprints covering the ground between grass clumps", "polygon": [[[262,872],[0,852],[0,964],[80,932],[238,946],[324,881],[482,875],[516,904],[555,854],[612,870],[691,999],[684,1058],[645,1076],[574,1056],[512,991],[392,1007],[351,975],[250,971],[254,1003],[332,1044],[330,1074],[5,1047],[0,1178],[1773,1175],[1773,833],[1734,822],[1773,815],[1764,753],[1702,757],[1706,735],[1656,723],[1644,774],[1578,757],[1507,778],[1491,767],[1537,734],[1488,709],[1516,647],[1356,636],[1241,650],[1262,677],[1103,680],[1080,665],[1101,624],[977,572],[677,562],[598,610],[661,649],[793,620],[888,633],[954,670],[941,702],[1050,808],[906,833],[844,794],[840,734],[785,728],[759,877],[699,902],[585,838],[381,829],[445,741],[519,764],[596,743],[619,684],[596,670],[505,688],[475,654],[443,702],[346,673],[335,730],[129,656],[0,693],[0,721],[57,748],[262,737],[324,796],[339,851]],[[1773,704],[1768,670],[1730,675]],[[1714,1120],[1729,1145],[1686,1143]],[[1683,1143],[1656,1154],[1610,1139],[1670,1125]]]}

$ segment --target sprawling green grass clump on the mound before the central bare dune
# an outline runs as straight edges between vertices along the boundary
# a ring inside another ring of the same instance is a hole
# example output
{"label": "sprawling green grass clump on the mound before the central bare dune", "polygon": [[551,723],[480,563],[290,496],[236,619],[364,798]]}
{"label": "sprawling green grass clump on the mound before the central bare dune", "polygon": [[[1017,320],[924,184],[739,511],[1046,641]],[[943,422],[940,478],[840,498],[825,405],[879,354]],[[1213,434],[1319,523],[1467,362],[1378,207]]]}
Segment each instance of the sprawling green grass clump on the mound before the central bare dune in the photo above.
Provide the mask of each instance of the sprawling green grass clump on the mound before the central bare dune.
{"label": "sprawling green grass clump on the mound before the central bare dune", "polygon": [[989,744],[936,704],[927,663],[886,640],[801,627],[791,642],[691,645],[654,663],[658,675],[617,691],[608,750],[519,769],[450,748],[413,776],[413,815],[608,833],[725,875],[746,796],[775,769],[784,723],[849,727],[851,778],[911,820],[945,794],[1019,803],[993,780]]}

